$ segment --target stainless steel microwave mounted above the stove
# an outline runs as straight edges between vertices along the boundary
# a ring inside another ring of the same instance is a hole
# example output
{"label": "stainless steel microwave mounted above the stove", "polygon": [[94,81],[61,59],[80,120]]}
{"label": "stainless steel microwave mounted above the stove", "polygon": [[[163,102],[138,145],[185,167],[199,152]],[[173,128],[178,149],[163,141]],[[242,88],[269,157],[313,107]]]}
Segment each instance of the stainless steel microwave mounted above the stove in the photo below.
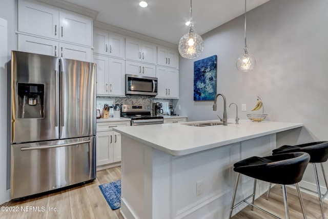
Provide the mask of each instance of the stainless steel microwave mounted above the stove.
{"label": "stainless steel microwave mounted above the stove", "polygon": [[125,82],[126,95],[157,95],[157,77],[126,74]]}

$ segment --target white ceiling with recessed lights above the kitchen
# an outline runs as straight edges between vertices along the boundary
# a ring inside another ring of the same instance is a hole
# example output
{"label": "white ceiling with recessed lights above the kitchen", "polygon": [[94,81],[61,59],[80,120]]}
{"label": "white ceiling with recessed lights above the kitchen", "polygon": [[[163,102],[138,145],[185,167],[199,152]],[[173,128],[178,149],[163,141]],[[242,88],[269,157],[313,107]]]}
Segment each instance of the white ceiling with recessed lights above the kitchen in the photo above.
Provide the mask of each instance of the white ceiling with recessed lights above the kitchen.
{"label": "white ceiling with recessed lights above the kitchen", "polygon": [[[189,31],[189,0],[63,0],[98,12],[96,21],[178,44]],[[247,11],[269,0],[248,0]],[[200,35],[244,13],[243,0],[198,0],[192,2],[194,31]]]}

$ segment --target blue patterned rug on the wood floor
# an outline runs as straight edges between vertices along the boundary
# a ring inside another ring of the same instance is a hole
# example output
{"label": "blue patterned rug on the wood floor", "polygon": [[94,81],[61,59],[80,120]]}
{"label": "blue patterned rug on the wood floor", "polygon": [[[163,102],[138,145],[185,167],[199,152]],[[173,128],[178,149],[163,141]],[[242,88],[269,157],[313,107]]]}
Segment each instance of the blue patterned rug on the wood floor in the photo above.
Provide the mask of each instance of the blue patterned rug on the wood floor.
{"label": "blue patterned rug on the wood floor", "polygon": [[121,207],[121,180],[100,185],[99,188],[111,209],[116,210]]}

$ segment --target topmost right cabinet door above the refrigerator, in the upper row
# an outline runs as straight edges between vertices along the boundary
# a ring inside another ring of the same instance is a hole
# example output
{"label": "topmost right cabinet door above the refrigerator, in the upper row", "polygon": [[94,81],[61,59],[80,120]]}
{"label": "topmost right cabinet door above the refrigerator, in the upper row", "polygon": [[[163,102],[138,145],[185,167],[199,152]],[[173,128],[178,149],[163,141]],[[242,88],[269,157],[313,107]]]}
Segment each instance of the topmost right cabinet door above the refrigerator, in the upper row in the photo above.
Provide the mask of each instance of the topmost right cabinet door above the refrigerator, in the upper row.
{"label": "topmost right cabinet door above the refrigerator, in the upper row", "polygon": [[59,39],[92,46],[92,20],[83,15],[59,12]]}

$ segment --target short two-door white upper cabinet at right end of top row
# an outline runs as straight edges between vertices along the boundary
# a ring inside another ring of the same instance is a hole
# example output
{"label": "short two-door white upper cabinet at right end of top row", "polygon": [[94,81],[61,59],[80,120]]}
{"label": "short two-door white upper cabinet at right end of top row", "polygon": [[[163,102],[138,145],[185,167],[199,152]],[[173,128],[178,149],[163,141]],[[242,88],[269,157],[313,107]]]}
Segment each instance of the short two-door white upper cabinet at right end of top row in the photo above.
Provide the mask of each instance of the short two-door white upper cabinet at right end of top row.
{"label": "short two-door white upper cabinet at right end of top row", "polygon": [[163,47],[157,47],[157,65],[178,68],[178,52]]}

